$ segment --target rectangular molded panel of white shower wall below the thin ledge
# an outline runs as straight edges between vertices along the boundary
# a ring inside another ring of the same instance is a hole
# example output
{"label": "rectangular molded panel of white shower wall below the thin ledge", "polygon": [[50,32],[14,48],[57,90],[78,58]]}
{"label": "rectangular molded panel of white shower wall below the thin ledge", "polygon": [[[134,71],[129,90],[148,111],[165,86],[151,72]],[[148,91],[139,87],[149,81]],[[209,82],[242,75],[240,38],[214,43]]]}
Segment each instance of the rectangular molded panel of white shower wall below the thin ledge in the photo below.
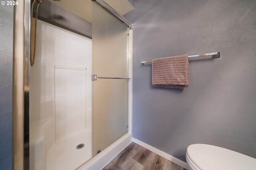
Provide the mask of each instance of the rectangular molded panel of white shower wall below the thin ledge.
{"label": "rectangular molded panel of white shower wall below the thin ledge", "polygon": [[55,68],[56,141],[86,128],[86,70]]}

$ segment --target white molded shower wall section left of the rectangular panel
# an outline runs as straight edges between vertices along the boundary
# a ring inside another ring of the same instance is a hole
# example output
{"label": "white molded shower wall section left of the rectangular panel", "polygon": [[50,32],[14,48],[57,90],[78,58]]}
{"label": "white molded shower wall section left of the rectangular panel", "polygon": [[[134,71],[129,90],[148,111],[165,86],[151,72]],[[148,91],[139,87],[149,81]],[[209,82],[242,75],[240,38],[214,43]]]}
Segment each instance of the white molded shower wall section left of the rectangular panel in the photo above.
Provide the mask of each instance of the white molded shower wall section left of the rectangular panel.
{"label": "white molded shower wall section left of the rectangular panel", "polygon": [[53,119],[54,61],[36,58],[30,77],[30,122]]}

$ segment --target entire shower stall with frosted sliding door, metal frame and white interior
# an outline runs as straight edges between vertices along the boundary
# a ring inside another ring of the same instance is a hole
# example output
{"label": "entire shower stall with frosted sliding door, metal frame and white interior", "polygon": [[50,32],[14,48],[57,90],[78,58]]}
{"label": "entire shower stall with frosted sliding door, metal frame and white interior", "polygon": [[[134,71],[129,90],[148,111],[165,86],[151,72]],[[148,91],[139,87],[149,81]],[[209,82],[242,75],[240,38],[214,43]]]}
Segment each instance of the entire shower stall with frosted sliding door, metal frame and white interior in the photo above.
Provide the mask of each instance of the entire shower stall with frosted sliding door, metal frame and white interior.
{"label": "entire shower stall with frosted sliding door, metal frame and white interior", "polygon": [[[24,67],[22,59],[14,61],[14,82],[23,91],[14,93],[23,96],[23,107],[14,102],[13,166],[81,169],[131,133],[132,30],[102,0],[34,2],[36,12],[30,0],[21,4]],[[18,19],[16,31],[22,26]],[[18,49],[22,43],[15,35]],[[20,70],[23,82],[16,77]]]}

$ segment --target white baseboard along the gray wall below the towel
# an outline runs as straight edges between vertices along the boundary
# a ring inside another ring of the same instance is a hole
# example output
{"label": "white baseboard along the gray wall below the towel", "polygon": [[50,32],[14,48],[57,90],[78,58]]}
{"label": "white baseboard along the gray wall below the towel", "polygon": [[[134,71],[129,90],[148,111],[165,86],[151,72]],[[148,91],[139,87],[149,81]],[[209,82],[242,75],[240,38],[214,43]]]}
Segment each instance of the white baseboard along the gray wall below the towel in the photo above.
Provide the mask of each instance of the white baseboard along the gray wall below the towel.
{"label": "white baseboard along the gray wall below the towel", "polygon": [[188,164],[186,162],[183,162],[182,160],[179,160],[174,156],[167,154],[166,152],[163,152],[162,150],[156,149],[142,141],[139,141],[138,139],[132,138],[132,141],[188,170]]}

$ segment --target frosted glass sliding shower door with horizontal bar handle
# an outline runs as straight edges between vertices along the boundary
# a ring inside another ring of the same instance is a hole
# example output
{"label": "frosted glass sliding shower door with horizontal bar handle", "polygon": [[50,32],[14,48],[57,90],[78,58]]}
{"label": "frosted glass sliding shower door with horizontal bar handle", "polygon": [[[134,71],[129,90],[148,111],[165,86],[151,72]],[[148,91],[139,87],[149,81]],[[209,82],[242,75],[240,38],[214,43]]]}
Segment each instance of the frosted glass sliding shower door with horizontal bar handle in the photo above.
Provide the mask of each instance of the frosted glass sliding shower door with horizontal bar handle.
{"label": "frosted glass sliding shower door with horizontal bar handle", "polygon": [[94,1],[92,156],[128,132],[128,31]]}

